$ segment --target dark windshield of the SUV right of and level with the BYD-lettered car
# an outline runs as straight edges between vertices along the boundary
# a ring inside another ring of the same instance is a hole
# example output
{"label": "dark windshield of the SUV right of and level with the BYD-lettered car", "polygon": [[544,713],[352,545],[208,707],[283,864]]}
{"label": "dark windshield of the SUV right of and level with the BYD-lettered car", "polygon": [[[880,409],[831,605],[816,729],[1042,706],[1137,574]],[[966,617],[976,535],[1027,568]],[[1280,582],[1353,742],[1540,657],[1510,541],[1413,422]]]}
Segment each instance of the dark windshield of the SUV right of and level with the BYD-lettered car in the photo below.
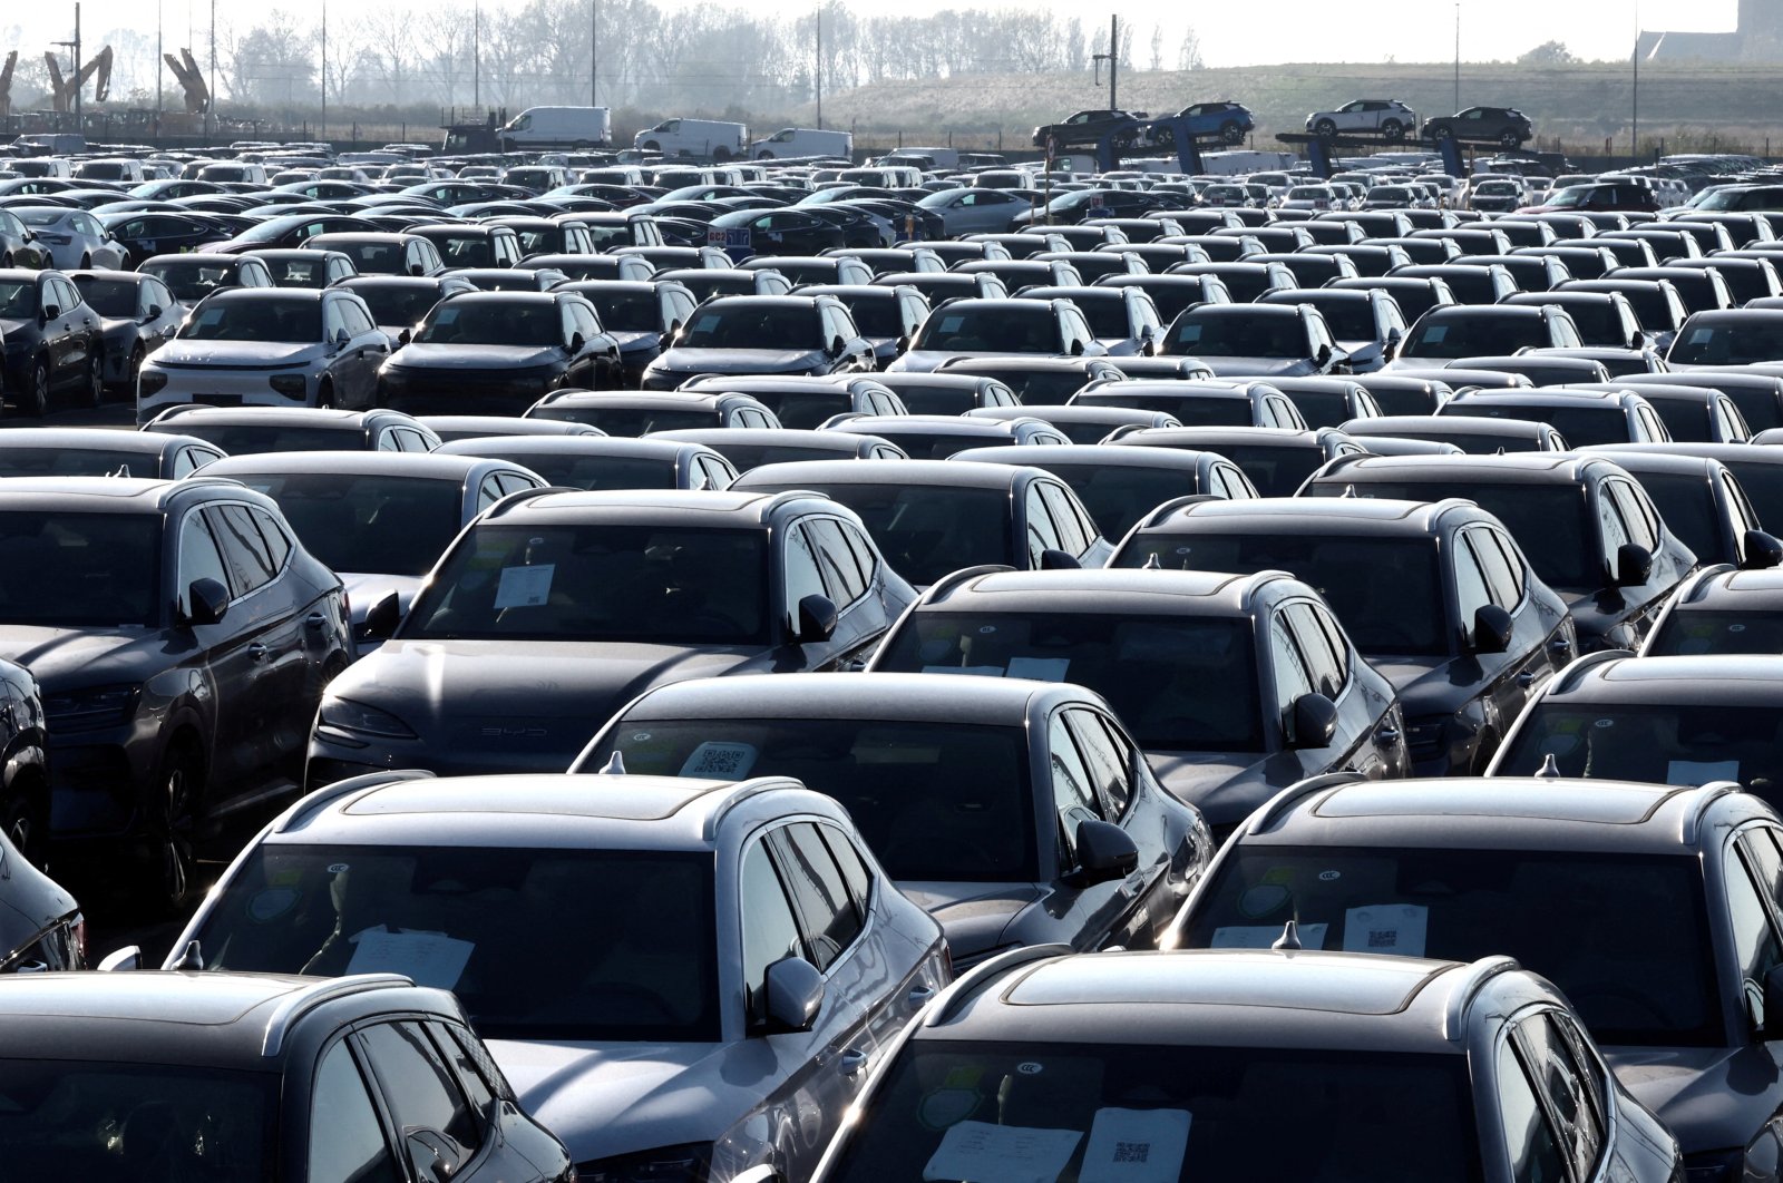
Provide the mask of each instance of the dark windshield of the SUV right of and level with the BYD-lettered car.
{"label": "dark windshield of the SUV right of and level with the BYD-lettered car", "polygon": [[1448,656],[1442,572],[1434,538],[1343,538],[1305,534],[1139,534],[1122,547],[1114,567],[1287,570],[1318,588],[1355,647],[1376,654]]}

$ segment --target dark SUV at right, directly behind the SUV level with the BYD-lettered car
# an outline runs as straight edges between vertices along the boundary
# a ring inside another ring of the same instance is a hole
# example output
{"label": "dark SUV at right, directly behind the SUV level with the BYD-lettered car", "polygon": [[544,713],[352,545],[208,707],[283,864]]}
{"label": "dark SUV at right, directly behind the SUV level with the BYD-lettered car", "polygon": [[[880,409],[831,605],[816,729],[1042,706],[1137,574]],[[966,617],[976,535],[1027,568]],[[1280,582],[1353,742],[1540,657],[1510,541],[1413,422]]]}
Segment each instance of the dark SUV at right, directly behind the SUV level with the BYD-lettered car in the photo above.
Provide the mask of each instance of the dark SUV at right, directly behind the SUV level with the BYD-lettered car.
{"label": "dark SUV at right, directly behind the SUV level with the BYD-lettered car", "polygon": [[1635,649],[1696,556],[1626,470],[1601,456],[1344,456],[1311,497],[1464,497],[1496,517],[1573,613],[1576,652]]}

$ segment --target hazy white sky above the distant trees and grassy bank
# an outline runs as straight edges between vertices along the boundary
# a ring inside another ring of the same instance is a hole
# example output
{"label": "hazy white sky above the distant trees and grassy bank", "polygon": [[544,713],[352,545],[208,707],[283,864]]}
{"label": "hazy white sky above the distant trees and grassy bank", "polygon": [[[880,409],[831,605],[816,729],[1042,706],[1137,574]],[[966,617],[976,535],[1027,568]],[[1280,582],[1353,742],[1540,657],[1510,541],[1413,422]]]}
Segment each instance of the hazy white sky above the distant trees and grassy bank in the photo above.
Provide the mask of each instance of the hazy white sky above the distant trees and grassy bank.
{"label": "hazy white sky above the distant trees and grassy bank", "polygon": [[[257,12],[283,7],[291,12],[319,18],[325,0],[216,0],[219,21],[251,25]],[[383,0],[335,0],[335,20],[353,7],[369,7]],[[451,0],[448,0],[451,2]],[[665,7],[681,7],[695,0],[658,0]],[[713,2],[713,0],[699,0]],[[715,0],[720,2],[722,0]],[[1257,62],[1312,62],[1348,61],[1378,62],[1394,59],[1451,61],[1455,55],[1453,0],[1409,0],[1401,4],[1344,4],[1343,0],[1262,0],[1261,4],[1198,4],[1186,12],[1180,0],[1132,0],[1125,4],[1072,4],[1066,0],[1038,0],[1054,11],[1104,23],[1111,14],[1134,25],[1134,57],[1145,61],[1146,45],[1155,25],[1166,30],[1164,61],[1175,59],[1177,43],[1186,23],[1193,23],[1202,41],[1202,57],[1209,66],[1245,66]],[[469,0],[465,0],[469,4]],[[405,4],[405,7],[424,7]],[[483,9],[505,7],[505,0],[483,0]],[[774,0],[742,0],[729,7],[758,12],[808,11],[806,4],[776,4]],[[883,11],[867,0],[852,4],[856,11]],[[900,0],[900,12],[931,12],[947,7],[998,7],[963,4],[961,0]],[[7,4],[0,14],[0,52],[11,29],[21,27],[18,48],[41,53],[50,41],[68,39],[73,32],[71,0],[52,4]],[[1637,21],[1646,29],[1676,30],[1731,30],[1737,0],[1460,0],[1462,59],[1512,59],[1544,41],[1564,41],[1583,59],[1628,57]],[[203,57],[201,45],[210,20],[210,0],[159,0],[168,46],[185,43],[187,29],[194,32],[194,52]],[[157,0],[84,0],[82,39],[98,45],[112,29],[139,29],[153,32]],[[1396,18],[1396,20],[1394,20]],[[1259,29],[1259,20],[1262,27]],[[1398,25],[1398,29],[1394,29]]]}

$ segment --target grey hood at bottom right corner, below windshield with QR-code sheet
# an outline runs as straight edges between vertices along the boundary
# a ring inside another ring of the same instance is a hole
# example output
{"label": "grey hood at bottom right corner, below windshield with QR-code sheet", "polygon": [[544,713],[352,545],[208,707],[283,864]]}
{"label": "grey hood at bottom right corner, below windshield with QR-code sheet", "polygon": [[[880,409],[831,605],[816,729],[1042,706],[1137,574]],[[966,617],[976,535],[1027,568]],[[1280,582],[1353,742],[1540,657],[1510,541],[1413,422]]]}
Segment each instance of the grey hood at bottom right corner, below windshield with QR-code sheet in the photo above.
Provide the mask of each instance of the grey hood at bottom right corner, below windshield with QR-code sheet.
{"label": "grey hood at bottom right corner, below windshield with QR-code sheet", "polygon": [[1605,1048],[1603,1058],[1685,1154],[1744,1147],[1783,1103],[1783,1078],[1763,1044]]}

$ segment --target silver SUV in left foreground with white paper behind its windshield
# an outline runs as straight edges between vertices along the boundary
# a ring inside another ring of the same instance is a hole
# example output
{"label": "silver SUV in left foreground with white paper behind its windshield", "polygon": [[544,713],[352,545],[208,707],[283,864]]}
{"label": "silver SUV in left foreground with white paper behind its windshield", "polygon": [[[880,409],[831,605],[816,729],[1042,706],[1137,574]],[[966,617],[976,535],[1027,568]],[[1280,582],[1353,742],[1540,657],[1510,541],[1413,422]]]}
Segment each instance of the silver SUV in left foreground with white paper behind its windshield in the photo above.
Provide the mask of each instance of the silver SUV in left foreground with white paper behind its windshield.
{"label": "silver SUV in left foreground with white paper behind its windshield", "polygon": [[205,969],[453,989],[583,1179],[801,1183],[950,976],[849,814],[785,777],[342,780],[235,859],[193,941]]}

